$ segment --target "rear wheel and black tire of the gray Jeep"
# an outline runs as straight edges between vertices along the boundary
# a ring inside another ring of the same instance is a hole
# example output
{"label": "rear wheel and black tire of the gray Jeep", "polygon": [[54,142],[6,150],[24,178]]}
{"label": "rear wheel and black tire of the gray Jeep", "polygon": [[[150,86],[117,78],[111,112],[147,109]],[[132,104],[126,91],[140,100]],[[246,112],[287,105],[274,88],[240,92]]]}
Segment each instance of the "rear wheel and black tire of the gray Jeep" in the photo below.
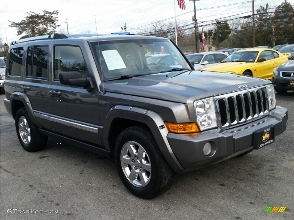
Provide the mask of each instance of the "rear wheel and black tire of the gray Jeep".
{"label": "rear wheel and black tire of the gray Jeep", "polygon": [[15,128],[19,142],[26,151],[34,152],[46,146],[48,137],[38,131],[24,107],[16,112]]}

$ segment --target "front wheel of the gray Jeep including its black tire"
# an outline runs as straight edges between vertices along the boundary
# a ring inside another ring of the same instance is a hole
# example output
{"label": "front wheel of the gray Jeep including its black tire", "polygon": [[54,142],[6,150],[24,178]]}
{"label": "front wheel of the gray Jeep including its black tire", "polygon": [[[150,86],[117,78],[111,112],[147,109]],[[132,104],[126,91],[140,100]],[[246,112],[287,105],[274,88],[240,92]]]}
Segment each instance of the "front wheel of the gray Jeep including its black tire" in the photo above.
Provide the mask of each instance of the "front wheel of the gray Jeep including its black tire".
{"label": "front wheel of the gray Jeep including its black tire", "polygon": [[[127,146],[132,146],[133,150],[129,151]],[[115,164],[125,187],[143,199],[151,199],[166,192],[173,183],[174,171],[146,126],[129,127],[118,136],[115,144]],[[141,180],[140,177],[146,180]]]}

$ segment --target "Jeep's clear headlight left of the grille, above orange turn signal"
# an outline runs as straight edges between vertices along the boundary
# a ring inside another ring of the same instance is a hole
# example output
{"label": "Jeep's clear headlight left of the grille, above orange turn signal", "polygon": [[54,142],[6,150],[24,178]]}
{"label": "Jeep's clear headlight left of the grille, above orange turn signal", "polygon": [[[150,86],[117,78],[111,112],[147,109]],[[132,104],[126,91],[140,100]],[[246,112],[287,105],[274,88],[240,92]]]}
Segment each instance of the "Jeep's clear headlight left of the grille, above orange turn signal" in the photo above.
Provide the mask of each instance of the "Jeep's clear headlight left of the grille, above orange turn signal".
{"label": "Jeep's clear headlight left of the grille, above orange turn signal", "polygon": [[201,131],[217,127],[216,108],[213,98],[194,101],[197,124]]}

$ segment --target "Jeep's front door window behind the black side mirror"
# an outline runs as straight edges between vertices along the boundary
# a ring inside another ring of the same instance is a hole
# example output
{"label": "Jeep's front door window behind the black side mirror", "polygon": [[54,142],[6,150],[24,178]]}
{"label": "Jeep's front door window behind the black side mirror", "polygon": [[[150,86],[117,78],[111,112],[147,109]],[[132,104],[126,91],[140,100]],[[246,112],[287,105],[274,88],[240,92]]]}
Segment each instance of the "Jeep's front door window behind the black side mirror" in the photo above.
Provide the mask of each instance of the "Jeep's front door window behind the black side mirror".
{"label": "Jeep's front door window behind the black side mirror", "polygon": [[54,47],[54,79],[59,79],[60,72],[78,71],[88,76],[86,62],[78,46]]}

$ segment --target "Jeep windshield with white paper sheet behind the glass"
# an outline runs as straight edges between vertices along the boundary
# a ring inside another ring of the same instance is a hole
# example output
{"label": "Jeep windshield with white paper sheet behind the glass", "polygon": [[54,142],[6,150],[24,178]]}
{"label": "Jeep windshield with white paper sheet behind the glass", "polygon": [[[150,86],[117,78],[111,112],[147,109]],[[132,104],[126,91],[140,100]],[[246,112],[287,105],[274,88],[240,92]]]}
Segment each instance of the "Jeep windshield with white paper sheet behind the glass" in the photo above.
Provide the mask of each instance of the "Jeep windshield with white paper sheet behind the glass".
{"label": "Jeep windshield with white paper sheet behind the glass", "polygon": [[[104,81],[127,76],[191,70],[180,51],[165,39],[133,39],[91,42]],[[100,51],[100,53],[99,53]]]}

